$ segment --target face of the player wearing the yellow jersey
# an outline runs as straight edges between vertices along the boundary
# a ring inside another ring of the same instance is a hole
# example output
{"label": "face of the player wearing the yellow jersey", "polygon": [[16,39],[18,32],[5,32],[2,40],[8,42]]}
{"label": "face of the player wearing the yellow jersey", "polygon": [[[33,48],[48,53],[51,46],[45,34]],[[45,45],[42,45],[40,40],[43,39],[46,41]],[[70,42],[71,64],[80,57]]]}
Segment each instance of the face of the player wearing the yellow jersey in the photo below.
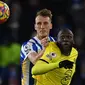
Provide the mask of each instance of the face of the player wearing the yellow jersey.
{"label": "face of the player wearing the yellow jersey", "polygon": [[73,33],[70,30],[60,31],[58,34],[58,43],[61,44],[63,49],[69,49],[73,45]]}

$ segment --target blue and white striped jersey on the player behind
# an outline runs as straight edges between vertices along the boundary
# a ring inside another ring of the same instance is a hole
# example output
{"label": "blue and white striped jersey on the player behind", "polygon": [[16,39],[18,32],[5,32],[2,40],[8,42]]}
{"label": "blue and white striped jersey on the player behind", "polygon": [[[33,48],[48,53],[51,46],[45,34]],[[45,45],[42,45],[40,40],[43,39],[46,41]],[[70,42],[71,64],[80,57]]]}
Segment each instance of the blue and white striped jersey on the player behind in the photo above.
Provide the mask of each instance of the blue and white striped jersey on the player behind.
{"label": "blue and white striped jersey on the player behind", "polygon": [[[55,39],[51,36],[48,37],[49,41],[54,41]],[[39,53],[44,47],[41,45],[40,40],[35,36],[29,41],[22,44],[20,52],[20,63],[22,66],[22,85],[29,85],[29,59],[27,56],[31,52]]]}

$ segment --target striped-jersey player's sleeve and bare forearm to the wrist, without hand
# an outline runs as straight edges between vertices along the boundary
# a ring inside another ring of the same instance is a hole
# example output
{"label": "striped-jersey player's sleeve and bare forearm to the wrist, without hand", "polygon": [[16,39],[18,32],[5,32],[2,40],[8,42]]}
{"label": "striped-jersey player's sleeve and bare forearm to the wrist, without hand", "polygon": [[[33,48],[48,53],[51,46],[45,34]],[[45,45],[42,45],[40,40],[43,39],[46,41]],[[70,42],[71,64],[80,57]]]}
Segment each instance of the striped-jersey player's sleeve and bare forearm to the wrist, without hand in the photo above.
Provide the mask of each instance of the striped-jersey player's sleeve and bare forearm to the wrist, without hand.
{"label": "striped-jersey player's sleeve and bare forearm to the wrist, without hand", "polygon": [[30,43],[30,42],[28,42],[28,44],[26,45],[24,44],[22,45],[21,52],[20,52],[21,62],[23,62],[23,60],[28,58],[33,64],[35,64],[35,62],[43,55],[45,49],[37,53],[36,45],[35,46],[34,45],[35,45],[34,43]]}

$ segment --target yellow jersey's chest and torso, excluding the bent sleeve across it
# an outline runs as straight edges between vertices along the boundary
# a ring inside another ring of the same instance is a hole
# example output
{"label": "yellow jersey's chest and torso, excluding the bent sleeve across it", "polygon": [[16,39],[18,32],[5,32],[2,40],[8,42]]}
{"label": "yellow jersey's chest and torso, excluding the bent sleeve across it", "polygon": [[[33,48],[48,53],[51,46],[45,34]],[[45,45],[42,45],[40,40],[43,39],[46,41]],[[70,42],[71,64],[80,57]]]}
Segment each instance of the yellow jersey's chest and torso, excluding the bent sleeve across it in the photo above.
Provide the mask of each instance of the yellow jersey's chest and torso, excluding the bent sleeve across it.
{"label": "yellow jersey's chest and torso, excluding the bent sleeve across it", "polygon": [[69,60],[74,62],[74,64],[72,69],[65,69],[64,67],[59,68],[59,66],[57,66],[56,69],[51,70],[45,74],[33,76],[37,80],[36,85],[70,85],[76,68],[77,56],[78,51],[75,48],[72,47],[70,55],[65,56],[61,54],[61,51],[55,42],[50,42],[43,56],[41,57],[42,60],[45,60],[49,63]]}

